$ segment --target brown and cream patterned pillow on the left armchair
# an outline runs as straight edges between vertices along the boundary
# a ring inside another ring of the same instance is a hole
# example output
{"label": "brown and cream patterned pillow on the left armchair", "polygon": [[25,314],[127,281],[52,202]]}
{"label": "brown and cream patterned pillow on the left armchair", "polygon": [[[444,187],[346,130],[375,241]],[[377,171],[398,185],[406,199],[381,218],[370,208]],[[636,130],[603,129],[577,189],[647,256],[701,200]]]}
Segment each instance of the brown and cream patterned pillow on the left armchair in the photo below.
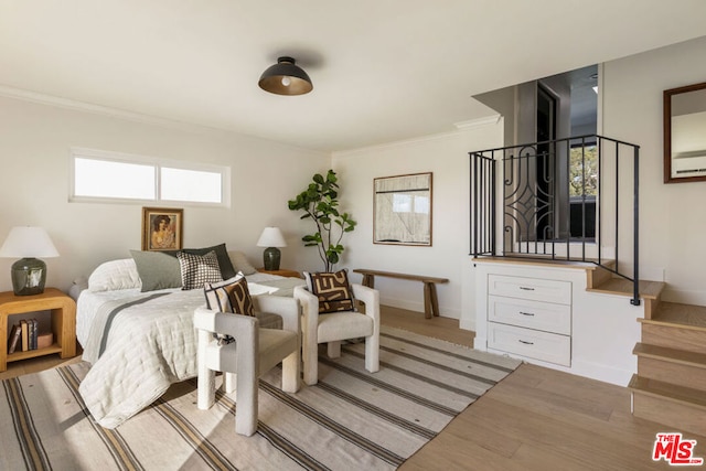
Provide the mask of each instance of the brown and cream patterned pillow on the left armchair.
{"label": "brown and cream patterned pillow on the left armchair", "polygon": [[[253,299],[243,272],[238,272],[235,277],[225,281],[207,282],[204,285],[203,291],[206,296],[206,307],[211,310],[255,315]],[[213,336],[218,340],[218,345],[225,345],[235,340],[231,335],[223,333],[214,333]]]}

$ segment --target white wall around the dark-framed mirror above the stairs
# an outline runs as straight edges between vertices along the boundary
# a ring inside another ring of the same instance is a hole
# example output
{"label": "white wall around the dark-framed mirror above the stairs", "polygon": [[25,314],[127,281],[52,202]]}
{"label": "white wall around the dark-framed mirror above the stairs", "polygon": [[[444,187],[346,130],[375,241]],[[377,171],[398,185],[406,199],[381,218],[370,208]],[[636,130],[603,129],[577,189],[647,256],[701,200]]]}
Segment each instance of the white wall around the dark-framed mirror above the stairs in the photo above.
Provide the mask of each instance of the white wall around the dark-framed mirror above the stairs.
{"label": "white wall around the dark-framed mirror above the stairs", "polygon": [[602,132],[641,147],[640,265],[663,299],[706,306],[706,182],[663,183],[662,93],[706,82],[706,38],[605,64]]}

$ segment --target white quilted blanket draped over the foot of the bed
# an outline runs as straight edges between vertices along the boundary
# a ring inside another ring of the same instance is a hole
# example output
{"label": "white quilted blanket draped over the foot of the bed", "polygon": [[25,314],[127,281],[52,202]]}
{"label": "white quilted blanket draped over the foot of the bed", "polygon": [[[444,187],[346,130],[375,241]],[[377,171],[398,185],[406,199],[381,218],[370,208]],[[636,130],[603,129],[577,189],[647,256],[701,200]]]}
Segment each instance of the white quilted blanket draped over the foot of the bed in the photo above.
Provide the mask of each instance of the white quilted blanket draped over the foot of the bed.
{"label": "white quilted blanket draped over the foot of the bed", "polygon": [[[104,353],[81,384],[81,395],[98,424],[115,428],[149,406],[169,386],[196,375],[194,309],[203,304],[203,292],[174,291],[120,309],[113,318],[105,339],[87,341],[88,357],[96,357],[95,345]],[[133,301],[130,299],[129,301]],[[109,302],[103,312],[113,312],[118,302]],[[94,345],[94,346],[92,346]],[[98,349],[99,350],[99,349]]]}

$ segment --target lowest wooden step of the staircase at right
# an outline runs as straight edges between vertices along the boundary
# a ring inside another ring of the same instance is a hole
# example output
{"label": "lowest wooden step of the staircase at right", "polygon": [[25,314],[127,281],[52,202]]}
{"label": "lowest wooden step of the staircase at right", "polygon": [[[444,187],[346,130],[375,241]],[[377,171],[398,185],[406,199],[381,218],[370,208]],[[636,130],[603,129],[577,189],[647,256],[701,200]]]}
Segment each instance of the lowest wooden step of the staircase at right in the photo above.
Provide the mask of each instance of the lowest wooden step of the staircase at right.
{"label": "lowest wooden step of the staircase at right", "polygon": [[680,430],[706,435],[706,394],[691,387],[633,375],[633,415]]}

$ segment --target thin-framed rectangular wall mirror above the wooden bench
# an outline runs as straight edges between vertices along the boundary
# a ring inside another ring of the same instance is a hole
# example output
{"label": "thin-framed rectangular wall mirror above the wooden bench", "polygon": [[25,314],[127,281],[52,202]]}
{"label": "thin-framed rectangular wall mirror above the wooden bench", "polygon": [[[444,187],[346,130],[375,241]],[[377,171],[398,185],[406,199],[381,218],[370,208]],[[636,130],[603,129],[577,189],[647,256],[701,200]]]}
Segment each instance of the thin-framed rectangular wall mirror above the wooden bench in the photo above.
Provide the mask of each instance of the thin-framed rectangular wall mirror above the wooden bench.
{"label": "thin-framed rectangular wall mirror above the wooden bench", "polygon": [[431,245],[431,172],[373,183],[373,243]]}

